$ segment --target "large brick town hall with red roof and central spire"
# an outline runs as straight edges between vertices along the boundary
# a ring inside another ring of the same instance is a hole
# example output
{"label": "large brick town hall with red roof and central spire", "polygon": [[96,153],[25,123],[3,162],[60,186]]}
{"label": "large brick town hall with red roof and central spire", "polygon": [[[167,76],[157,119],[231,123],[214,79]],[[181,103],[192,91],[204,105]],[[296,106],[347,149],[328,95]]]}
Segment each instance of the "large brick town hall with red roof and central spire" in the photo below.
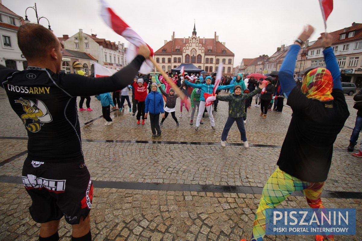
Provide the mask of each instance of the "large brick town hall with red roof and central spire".
{"label": "large brick town hall with red roof and central spire", "polygon": [[[225,43],[219,42],[219,36],[205,39],[197,36],[196,28],[192,36],[188,38],[175,38],[173,32],[171,41],[165,40],[164,46],[155,51],[155,60],[164,71],[171,72],[182,63],[192,63],[197,68],[212,72],[222,71],[223,75],[232,74],[234,53],[225,47]],[[218,69],[219,63],[223,68]]]}

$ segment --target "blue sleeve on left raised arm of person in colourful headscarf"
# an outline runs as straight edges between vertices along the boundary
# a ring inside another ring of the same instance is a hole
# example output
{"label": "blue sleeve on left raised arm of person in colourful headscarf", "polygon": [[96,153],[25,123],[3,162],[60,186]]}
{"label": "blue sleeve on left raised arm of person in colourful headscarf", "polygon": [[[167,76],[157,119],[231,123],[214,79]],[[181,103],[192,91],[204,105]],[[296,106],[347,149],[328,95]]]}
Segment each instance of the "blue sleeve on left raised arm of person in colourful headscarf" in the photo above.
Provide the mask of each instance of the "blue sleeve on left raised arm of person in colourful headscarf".
{"label": "blue sleeve on left raised arm of person in colourful headscarf", "polygon": [[288,98],[290,91],[296,86],[294,81],[294,68],[299,50],[300,46],[298,44],[291,45],[279,70],[280,85],[286,98]]}

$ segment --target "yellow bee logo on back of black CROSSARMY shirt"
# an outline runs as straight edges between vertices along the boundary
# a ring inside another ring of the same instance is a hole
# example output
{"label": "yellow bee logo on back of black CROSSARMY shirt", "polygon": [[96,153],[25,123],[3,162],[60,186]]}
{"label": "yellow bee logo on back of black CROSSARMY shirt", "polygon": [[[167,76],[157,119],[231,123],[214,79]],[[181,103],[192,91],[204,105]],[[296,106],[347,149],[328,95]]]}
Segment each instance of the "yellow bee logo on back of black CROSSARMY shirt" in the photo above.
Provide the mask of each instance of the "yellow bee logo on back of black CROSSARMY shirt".
{"label": "yellow bee logo on back of black CROSSARMY shirt", "polygon": [[41,100],[36,100],[36,104],[31,100],[20,98],[15,103],[22,104],[25,114],[20,118],[26,129],[30,132],[38,132],[44,123],[51,122],[52,118],[48,108]]}

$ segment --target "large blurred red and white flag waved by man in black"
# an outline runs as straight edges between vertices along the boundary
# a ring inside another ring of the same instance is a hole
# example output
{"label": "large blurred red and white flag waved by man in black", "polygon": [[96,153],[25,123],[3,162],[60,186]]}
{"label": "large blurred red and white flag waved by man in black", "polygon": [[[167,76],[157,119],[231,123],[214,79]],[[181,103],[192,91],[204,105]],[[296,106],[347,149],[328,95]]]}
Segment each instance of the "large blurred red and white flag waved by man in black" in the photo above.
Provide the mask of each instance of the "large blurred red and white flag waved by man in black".
{"label": "large blurred red and white flag waved by man in black", "polygon": [[[121,35],[127,41],[131,43],[131,46],[127,49],[126,52],[126,61],[130,63],[137,56],[137,49],[140,45],[146,44],[143,39],[130,27],[125,23],[120,17],[117,16],[113,12],[113,9],[109,7],[109,5],[104,0],[100,0],[102,9],[101,16],[106,24],[113,29],[117,34]],[[148,44],[147,44],[148,46]],[[150,46],[148,46],[151,50],[151,56],[153,56],[153,50]],[[143,62],[139,72],[142,74],[148,74],[152,70],[152,62],[149,59]]]}

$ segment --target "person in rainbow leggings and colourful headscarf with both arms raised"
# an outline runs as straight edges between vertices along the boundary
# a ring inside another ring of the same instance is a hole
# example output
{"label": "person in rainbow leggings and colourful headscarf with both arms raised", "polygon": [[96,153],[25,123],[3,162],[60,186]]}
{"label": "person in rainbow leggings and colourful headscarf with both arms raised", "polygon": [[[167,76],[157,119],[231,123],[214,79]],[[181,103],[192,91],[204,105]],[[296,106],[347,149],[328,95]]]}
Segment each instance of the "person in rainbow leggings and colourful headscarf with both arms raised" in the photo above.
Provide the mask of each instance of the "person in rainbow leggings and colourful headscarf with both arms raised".
{"label": "person in rainbow leggings and colourful headscarf with both arms raised", "polygon": [[[262,191],[251,241],[262,241],[265,236],[265,209],[276,207],[294,191],[303,190],[311,208],[323,208],[320,197],[331,166],[333,143],[349,112],[329,34],[321,34],[315,43],[324,47],[326,68],[304,73],[301,89],[296,87],[296,57],[312,33],[312,26],[304,29],[279,70],[279,81],[293,115],[277,162],[279,167]],[[333,240],[330,233],[316,236],[316,241]]]}

